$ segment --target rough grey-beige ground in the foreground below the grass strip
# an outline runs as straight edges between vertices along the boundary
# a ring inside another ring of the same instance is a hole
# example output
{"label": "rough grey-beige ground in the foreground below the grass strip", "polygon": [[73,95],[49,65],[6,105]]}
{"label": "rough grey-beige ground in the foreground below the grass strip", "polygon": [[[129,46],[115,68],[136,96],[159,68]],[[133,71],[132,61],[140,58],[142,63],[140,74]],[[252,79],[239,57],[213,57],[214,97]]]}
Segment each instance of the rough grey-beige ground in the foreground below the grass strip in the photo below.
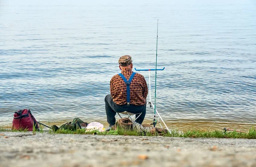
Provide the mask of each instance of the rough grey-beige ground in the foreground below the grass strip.
{"label": "rough grey-beige ground in the foreground below the grass strip", "polygon": [[0,167],[255,167],[255,139],[0,132]]}

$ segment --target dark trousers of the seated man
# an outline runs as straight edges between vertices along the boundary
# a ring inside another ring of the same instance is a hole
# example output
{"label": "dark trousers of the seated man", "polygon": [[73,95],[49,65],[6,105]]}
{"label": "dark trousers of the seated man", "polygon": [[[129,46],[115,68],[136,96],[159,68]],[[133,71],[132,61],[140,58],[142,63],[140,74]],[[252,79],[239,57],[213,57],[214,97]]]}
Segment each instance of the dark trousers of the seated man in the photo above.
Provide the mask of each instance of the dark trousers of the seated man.
{"label": "dark trousers of the seated man", "polygon": [[115,102],[113,102],[111,95],[107,95],[105,97],[105,109],[106,109],[107,121],[109,125],[116,124],[116,118],[115,118],[116,112],[124,112],[124,111],[131,112],[133,114],[136,114],[136,118],[142,112],[140,117],[137,118],[137,120],[135,121],[139,124],[142,124],[146,115],[146,104],[142,106],[135,106],[132,104],[130,104],[129,106],[127,106],[127,104],[119,106],[115,104]]}

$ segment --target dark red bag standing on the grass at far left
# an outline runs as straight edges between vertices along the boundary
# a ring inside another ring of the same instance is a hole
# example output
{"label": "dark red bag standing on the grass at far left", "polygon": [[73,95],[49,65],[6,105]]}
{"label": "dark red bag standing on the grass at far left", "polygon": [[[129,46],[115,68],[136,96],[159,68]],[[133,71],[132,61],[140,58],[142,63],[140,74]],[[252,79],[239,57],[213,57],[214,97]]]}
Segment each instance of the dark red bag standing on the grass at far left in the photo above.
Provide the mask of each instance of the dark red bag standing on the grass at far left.
{"label": "dark red bag standing on the grass at far left", "polygon": [[14,113],[12,130],[26,129],[28,131],[33,131],[33,127],[35,127],[35,130],[39,130],[38,122],[35,120],[30,109],[23,109]]}

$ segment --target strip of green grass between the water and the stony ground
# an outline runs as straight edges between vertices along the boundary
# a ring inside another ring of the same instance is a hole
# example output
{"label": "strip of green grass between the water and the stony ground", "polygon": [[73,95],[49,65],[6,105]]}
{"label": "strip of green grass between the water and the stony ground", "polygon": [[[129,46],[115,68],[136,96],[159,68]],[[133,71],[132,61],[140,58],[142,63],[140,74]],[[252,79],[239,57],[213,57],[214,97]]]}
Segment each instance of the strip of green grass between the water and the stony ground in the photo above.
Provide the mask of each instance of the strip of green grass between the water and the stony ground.
{"label": "strip of green grass between the water and the stony ground", "polygon": [[[4,128],[0,128],[0,132],[28,132],[27,130],[7,130]],[[39,131],[33,130],[33,133],[44,132],[42,127],[40,127]],[[132,130],[124,130],[122,128],[117,128],[117,130],[111,130],[109,132],[99,132],[99,131],[86,131],[84,129],[71,131],[71,130],[57,130],[53,132],[49,130],[50,134],[87,134],[87,135],[145,135],[145,136],[155,136],[155,134],[141,134],[137,131]],[[251,128],[248,132],[236,132],[236,131],[227,131],[223,130],[214,130],[214,131],[201,131],[201,130],[187,130],[183,133],[180,133],[178,130],[172,130],[172,133],[167,133],[163,136],[166,137],[183,137],[183,138],[248,138],[248,139],[256,139],[256,130],[255,128]]]}

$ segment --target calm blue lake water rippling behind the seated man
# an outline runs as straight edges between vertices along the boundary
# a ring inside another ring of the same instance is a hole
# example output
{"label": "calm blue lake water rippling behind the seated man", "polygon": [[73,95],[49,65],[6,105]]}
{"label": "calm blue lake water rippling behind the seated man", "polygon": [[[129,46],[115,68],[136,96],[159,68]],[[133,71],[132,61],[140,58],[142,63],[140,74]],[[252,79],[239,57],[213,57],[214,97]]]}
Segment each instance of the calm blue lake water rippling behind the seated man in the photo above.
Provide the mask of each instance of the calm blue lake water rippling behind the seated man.
{"label": "calm blue lake water rippling behind the seated man", "polygon": [[[44,123],[107,125],[104,98],[119,57],[155,67],[157,19],[165,70],[156,107],[169,128],[256,126],[254,0],[0,0],[0,126],[24,108]],[[145,122],[153,113],[148,107]]]}

